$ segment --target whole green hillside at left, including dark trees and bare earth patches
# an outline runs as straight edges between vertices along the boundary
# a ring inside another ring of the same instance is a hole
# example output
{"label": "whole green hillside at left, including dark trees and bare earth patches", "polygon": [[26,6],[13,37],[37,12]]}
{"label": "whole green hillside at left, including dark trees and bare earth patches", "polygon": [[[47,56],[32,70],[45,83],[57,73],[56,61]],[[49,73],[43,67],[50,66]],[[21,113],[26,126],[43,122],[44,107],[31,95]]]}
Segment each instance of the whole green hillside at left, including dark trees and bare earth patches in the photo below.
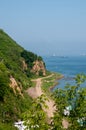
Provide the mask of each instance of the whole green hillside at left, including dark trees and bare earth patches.
{"label": "whole green hillside at left, including dark trees and bare earth patches", "polygon": [[32,101],[24,90],[32,85],[30,78],[35,73],[31,69],[36,60],[42,58],[24,50],[0,29],[0,130],[5,130],[6,123],[6,130],[11,129],[8,124],[29,109]]}

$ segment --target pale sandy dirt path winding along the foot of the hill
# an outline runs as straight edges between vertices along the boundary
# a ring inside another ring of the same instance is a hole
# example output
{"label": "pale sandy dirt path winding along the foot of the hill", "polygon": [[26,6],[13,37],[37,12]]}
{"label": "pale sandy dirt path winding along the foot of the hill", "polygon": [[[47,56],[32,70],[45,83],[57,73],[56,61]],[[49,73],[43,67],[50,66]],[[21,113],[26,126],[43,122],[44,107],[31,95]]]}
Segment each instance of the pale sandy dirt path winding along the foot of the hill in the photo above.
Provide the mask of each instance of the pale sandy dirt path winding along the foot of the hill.
{"label": "pale sandy dirt path winding along the foot of the hill", "polygon": [[[36,86],[35,87],[31,87],[27,90],[28,94],[34,99],[37,98],[39,96],[41,96],[42,94],[44,94],[44,92],[41,89],[41,84],[42,84],[42,79],[44,78],[49,78],[52,77],[53,74],[47,76],[47,77],[43,77],[43,78],[38,78],[36,80]],[[46,95],[47,96],[47,95]],[[48,98],[48,97],[47,97]],[[56,110],[55,107],[55,102],[52,99],[48,99],[47,101],[45,101],[46,105],[48,106],[48,108],[44,109],[44,111],[47,113],[48,118],[53,117],[53,113]]]}

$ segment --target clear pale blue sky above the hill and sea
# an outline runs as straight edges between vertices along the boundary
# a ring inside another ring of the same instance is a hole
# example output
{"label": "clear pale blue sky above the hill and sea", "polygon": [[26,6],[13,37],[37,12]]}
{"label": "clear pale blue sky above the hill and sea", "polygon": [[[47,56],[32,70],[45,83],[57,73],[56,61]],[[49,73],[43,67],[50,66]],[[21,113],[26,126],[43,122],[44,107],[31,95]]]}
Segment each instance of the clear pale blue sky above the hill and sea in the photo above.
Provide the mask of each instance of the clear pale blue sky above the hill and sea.
{"label": "clear pale blue sky above the hill and sea", "polygon": [[0,0],[0,28],[38,55],[86,54],[86,0]]}

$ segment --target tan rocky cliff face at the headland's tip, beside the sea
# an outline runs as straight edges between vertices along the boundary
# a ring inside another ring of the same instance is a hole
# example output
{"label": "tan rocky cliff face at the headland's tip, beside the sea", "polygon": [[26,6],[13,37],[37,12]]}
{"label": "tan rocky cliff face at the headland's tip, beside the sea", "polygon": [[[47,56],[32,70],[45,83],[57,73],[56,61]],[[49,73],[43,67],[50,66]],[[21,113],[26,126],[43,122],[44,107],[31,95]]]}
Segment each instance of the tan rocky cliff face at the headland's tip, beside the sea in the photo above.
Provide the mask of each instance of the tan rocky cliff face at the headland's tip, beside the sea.
{"label": "tan rocky cliff face at the headland's tip, beside the sea", "polygon": [[31,70],[33,73],[40,76],[46,76],[46,69],[43,61],[36,60],[33,64],[34,65]]}

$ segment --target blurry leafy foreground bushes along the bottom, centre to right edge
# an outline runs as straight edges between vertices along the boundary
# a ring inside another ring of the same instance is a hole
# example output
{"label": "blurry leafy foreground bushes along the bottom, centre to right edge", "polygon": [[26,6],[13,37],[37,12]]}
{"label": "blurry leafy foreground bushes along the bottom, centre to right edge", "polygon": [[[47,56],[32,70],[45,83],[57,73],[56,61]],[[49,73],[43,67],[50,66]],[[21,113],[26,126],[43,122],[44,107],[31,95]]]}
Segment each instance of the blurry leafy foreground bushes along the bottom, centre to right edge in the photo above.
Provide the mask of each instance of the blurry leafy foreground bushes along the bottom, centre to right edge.
{"label": "blurry leafy foreground bushes along the bottom, centre to right edge", "polygon": [[[47,125],[46,116],[41,108],[45,104],[44,100],[48,100],[42,95],[35,101],[35,107],[32,104],[31,111],[24,114],[25,125],[30,130],[86,130],[86,88],[81,88],[81,84],[86,81],[86,76],[77,75],[75,81],[74,86],[67,84],[65,89],[57,89],[53,93],[57,110],[51,123]],[[68,124],[66,128],[63,120]]]}

